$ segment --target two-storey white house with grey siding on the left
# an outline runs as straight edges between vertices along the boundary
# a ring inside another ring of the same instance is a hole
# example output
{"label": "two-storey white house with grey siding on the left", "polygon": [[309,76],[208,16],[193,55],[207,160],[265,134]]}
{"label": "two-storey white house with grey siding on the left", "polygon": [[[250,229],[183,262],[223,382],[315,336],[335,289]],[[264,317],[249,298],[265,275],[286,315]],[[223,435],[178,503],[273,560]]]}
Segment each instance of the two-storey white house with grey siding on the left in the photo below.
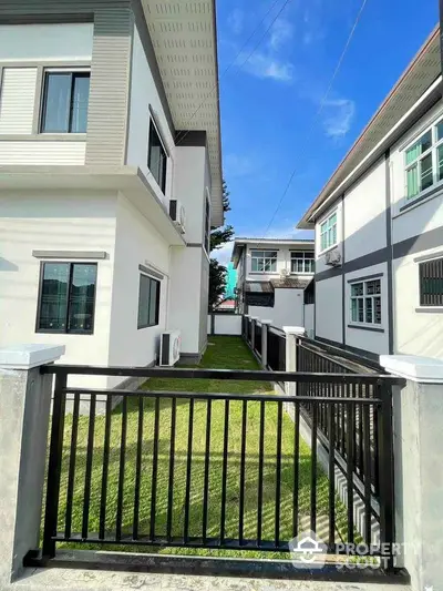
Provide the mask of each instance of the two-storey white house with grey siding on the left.
{"label": "two-storey white house with grey siding on the left", "polygon": [[183,357],[205,350],[224,214],[215,6],[196,6],[0,4],[1,346],[146,366],[179,329]]}

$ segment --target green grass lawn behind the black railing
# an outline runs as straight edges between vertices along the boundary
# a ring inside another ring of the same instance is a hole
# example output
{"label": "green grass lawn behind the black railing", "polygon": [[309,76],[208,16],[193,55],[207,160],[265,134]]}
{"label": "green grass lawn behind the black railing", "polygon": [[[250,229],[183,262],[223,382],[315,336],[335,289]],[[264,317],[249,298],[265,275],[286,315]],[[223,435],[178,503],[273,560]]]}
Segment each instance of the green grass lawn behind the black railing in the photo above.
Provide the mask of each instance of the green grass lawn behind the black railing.
{"label": "green grass lawn behind the black railing", "polygon": [[[239,337],[212,337],[208,349],[199,367],[229,368],[229,369],[258,369],[257,361]],[[247,381],[217,381],[200,379],[151,379],[143,386],[145,390],[162,391],[212,391],[212,393],[271,393],[271,386],[266,383]],[[264,463],[264,505],[262,505],[262,539],[274,539],[275,530],[275,497],[276,497],[276,440],[277,440],[277,404],[267,403],[265,420],[265,463]],[[258,449],[259,449],[259,403],[248,404],[247,415],[247,447],[246,447],[246,478],[245,478],[245,528],[244,537],[257,537],[257,496],[258,496]],[[240,496],[240,449],[241,449],[241,401],[230,403],[229,445],[227,467],[227,500],[226,500],[226,531],[227,538],[238,537],[238,508]],[[187,400],[177,401],[176,437],[175,437],[175,468],[174,468],[174,509],[173,536],[183,536],[184,499],[186,489],[187,467],[187,439],[188,439]],[[222,468],[223,468],[223,434],[224,434],[225,403],[213,403],[210,461],[209,461],[209,514],[208,536],[219,536],[220,507],[222,507]],[[121,407],[112,415],[110,472],[106,497],[106,530],[115,531],[115,514],[117,507],[120,449],[121,449]],[[126,437],[126,467],[124,479],[124,508],[123,531],[131,532],[134,511],[134,482],[136,438],[138,425],[138,401],[128,403],[127,437]],[[64,514],[66,507],[68,466],[70,461],[72,416],[66,417],[65,446],[63,454],[63,471],[61,487],[61,502],[59,512],[59,530],[64,529]],[[82,526],[82,506],[85,479],[85,459],[87,444],[87,417],[80,417],[78,435],[78,452],[75,468],[74,503],[72,516],[72,531],[80,532]],[[203,519],[203,482],[205,466],[205,427],[206,401],[196,401],[194,409],[194,436],[190,472],[190,511],[189,536],[202,536]],[[151,491],[152,491],[152,454],[154,432],[154,400],[144,399],[143,409],[143,460],[140,498],[140,533],[148,533],[151,520]],[[161,400],[161,420],[158,437],[158,473],[156,495],[156,534],[166,533],[167,500],[168,500],[168,472],[169,472],[169,438],[171,435],[171,398],[165,395]],[[104,417],[97,416],[94,430],[94,459],[91,485],[90,532],[99,531],[102,459],[104,440]],[[301,530],[309,529],[308,516],[310,513],[310,451],[300,439],[300,482],[299,482],[299,523]],[[282,425],[282,458],[281,458],[281,527],[280,539],[289,540],[292,537],[292,490],[293,490],[293,424],[284,414]],[[317,497],[318,533],[321,536],[321,523],[327,522],[328,516],[328,479],[318,470]],[[346,530],[346,514],[343,507],[337,501],[338,527]],[[343,526],[344,524],[344,526]],[[346,531],[344,531],[346,532]],[[84,544],[82,544],[84,548]],[[96,547],[95,547],[96,548]],[[104,547],[103,547],[104,548]],[[106,546],[105,548],[111,549]],[[117,546],[112,547],[119,548]],[[136,550],[134,547],[125,549]],[[123,549],[123,548],[119,548]],[[226,551],[194,550],[194,549],[165,549],[138,548],[138,551],[158,551],[177,553],[198,553],[212,556],[226,556]],[[244,552],[229,552],[229,556],[241,556]],[[248,552],[247,556],[264,556],[259,552]],[[270,558],[270,554],[267,553]],[[275,554],[276,556],[276,554]]]}

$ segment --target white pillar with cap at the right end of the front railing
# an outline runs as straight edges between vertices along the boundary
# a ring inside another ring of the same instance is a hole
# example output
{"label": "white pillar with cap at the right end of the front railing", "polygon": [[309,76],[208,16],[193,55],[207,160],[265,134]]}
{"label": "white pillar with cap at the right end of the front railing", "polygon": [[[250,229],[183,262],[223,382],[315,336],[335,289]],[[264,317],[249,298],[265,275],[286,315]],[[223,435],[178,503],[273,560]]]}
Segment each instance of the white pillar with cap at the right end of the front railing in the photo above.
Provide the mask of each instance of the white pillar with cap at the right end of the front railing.
{"label": "white pillar with cap at the right end of the front railing", "polygon": [[382,355],[393,394],[395,529],[413,591],[443,589],[443,361]]}

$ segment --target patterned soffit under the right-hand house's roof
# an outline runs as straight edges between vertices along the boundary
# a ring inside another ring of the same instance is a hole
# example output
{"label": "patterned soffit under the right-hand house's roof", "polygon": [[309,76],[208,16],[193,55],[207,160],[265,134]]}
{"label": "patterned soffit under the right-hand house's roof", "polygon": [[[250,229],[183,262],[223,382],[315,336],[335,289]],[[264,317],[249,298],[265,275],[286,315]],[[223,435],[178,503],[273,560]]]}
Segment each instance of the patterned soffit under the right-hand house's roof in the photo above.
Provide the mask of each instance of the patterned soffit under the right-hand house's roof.
{"label": "patterned soffit under the right-hand house's roof", "polygon": [[[299,227],[307,227],[312,214],[329,195],[351,174],[353,169],[382,141],[400,119],[416,103],[441,73],[440,29],[436,28],[399,82],[368,123],[351,150],[303,215]],[[389,58],[388,58],[389,59]]]}

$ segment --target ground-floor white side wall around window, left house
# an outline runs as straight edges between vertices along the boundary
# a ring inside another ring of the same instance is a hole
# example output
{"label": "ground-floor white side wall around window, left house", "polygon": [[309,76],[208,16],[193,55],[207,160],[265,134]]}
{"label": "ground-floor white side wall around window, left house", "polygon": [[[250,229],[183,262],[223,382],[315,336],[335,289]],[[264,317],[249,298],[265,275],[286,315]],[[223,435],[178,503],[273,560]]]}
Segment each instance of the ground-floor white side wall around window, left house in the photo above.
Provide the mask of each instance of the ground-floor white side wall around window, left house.
{"label": "ground-floor white side wall around window, left house", "polygon": [[[161,282],[159,323],[157,326],[138,329],[141,264],[154,266],[164,278]],[[168,245],[148,220],[120,195],[116,207],[110,365],[143,367],[157,359],[159,335],[165,330],[167,322],[168,291]],[[122,380],[114,378],[111,381],[114,386]]]}

